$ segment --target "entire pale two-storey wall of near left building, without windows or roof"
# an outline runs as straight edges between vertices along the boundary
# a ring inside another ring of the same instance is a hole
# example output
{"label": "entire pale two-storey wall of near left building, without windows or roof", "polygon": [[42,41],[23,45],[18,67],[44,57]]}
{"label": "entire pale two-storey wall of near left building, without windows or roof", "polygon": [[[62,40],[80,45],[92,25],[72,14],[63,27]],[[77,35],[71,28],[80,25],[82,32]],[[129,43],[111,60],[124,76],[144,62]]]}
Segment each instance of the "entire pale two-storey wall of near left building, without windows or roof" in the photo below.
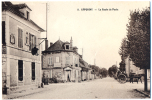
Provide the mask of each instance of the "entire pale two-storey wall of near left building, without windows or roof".
{"label": "entire pale two-storey wall of near left building, without windows or roof", "polygon": [[[40,32],[38,28],[31,25],[26,20],[12,14],[11,12],[3,12],[3,21],[6,22],[6,48],[7,61],[3,68],[7,72],[7,86],[10,88],[18,86],[27,86],[40,83],[41,74],[41,57],[33,56],[29,51],[29,46],[25,45],[26,31],[37,36],[37,45],[39,44]],[[18,48],[18,27],[23,29],[23,48]],[[10,35],[15,36],[15,44],[10,43]],[[40,49],[40,48],[39,48]],[[38,51],[39,54],[41,49]],[[23,60],[23,82],[18,81],[18,60]],[[35,81],[31,81],[31,62],[35,62]]]}

